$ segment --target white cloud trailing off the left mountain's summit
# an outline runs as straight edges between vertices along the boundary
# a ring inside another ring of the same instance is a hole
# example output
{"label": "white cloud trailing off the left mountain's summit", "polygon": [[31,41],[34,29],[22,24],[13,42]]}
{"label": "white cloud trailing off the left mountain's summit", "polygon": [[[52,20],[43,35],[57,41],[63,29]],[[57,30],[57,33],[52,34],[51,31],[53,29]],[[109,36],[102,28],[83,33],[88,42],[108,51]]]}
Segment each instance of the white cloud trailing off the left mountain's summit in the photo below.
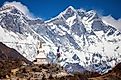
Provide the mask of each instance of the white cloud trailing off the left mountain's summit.
{"label": "white cloud trailing off the left mountain's summit", "polygon": [[4,5],[11,5],[11,6],[15,6],[18,10],[20,10],[24,15],[26,15],[27,17],[34,19],[35,16],[29,11],[29,9],[23,5],[21,2],[5,2]]}

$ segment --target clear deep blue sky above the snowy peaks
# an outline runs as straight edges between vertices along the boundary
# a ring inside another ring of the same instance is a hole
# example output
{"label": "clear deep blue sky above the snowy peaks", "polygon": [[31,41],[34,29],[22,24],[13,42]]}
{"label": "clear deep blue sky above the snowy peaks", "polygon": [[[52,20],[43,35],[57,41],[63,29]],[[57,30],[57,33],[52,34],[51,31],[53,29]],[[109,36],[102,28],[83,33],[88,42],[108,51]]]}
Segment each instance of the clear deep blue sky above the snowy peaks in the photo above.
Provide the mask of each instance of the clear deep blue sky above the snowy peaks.
{"label": "clear deep blue sky above the snowy peaks", "polygon": [[[6,1],[0,0],[0,6]],[[45,20],[50,19],[68,6],[83,8],[85,10],[94,9],[98,13],[107,16],[111,15],[115,19],[121,17],[121,0],[14,0],[26,5],[31,13]]]}

